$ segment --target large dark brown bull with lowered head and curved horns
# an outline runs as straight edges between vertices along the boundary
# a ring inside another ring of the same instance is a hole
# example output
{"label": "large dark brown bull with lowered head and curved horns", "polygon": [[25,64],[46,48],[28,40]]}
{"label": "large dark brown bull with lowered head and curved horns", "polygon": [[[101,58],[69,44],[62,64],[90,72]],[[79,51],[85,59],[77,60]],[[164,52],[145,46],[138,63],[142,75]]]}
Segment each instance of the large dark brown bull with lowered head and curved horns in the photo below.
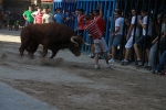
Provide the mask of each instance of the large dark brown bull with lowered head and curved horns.
{"label": "large dark brown bull with lowered head and curved horns", "polygon": [[30,24],[21,31],[19,51],[21,56],[23,56],[24,50],[33,55],[39,44],[42,44],[43,57],[48,50],[52,51],[51,58],[53,58],[63,48],[69,48],[75,56],[80,56],[82,43],[85,43],[82,37],[66,25],[59,23]]}

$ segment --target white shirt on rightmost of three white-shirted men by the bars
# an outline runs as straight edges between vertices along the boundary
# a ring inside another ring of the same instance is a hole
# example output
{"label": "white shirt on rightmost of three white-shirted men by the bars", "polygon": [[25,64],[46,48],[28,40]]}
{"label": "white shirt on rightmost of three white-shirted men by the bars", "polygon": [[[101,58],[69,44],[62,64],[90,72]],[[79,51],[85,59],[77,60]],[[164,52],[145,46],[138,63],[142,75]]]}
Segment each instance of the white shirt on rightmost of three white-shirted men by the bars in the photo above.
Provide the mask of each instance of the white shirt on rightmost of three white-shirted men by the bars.
{"label": "white shirt on rightmost of three white-shirted men by the bars", "polygon": [[[147,15],[143,19],[143,24],[147,25]],[[147,28],[147,26],[146,26]],[[143,28],[143,35],[146,35],[146,30]],[[147,35],[152,36],[152,20],[149,18]]]}

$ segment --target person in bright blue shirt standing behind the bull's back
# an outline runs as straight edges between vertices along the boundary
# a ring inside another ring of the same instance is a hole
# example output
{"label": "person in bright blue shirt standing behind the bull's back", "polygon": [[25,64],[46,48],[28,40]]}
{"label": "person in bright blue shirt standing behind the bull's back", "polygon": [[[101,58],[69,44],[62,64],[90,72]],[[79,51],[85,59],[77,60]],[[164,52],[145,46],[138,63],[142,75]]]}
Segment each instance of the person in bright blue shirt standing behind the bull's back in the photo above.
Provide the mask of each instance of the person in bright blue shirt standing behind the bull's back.
{"label": "person in bright blue shirt standing behind the bull's back", "polygon": [[54,14],[54,21],[56,23],[63,24],[64,22],[64,14],[61,12],[61,8],[56,9],[56,13]]}

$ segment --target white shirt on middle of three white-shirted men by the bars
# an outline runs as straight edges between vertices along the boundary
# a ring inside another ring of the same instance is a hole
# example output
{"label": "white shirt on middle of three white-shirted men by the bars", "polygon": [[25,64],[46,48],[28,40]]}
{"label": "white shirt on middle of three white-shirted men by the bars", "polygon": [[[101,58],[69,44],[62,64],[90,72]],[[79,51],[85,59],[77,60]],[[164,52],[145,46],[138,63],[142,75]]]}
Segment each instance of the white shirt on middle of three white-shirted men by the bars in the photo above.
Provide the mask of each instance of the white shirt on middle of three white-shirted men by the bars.
{"label": "white shirt on middle of three white-shirted men by the bars", "polygon": [[[136,24],[139,24],[139,22],[138,22],[139,20],[141,20],[141,15],[137,15],[137,22],[136,22]],[[131,24],[135,24],[135,15],[132,18]],[[134,35],[134,28],[133,28],[133,30],[132,30],[131,35]],[[136,26],[135,35],[136,35],[136,36],[139,35],[139,29],[138,29],[138,26]]]}

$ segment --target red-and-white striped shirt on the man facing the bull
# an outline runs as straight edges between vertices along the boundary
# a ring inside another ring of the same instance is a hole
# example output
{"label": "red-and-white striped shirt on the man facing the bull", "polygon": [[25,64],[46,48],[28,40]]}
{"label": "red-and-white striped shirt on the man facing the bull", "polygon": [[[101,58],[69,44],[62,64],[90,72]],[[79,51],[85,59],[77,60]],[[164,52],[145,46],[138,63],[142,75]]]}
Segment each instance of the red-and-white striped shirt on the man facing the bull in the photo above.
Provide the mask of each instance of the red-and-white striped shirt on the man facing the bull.
{"label": "red-and-white striped shirt on the man facing the bull", "polygon": [[84,29],[92,35],[93,40],[101,38],[103,35],[94,20],[89,21]]}

